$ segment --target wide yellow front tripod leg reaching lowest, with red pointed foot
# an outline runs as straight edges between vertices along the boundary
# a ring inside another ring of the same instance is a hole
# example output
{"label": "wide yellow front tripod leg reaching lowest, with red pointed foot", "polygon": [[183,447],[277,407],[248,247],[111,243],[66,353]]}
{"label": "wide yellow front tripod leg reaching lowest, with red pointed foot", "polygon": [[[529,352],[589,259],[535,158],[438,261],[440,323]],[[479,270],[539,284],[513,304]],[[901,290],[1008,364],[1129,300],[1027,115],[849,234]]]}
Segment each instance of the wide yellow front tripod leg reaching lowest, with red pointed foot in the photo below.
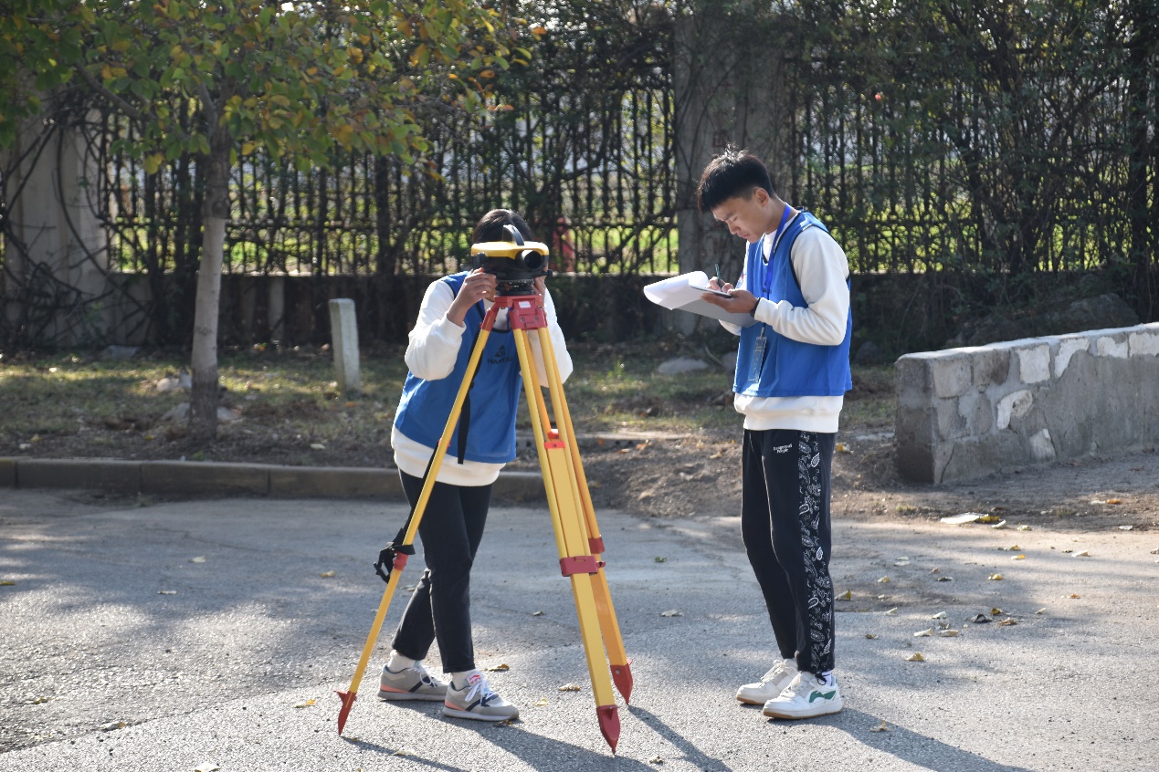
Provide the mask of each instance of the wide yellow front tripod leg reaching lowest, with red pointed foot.
{"label": "wide yellow front tripod leg reaching lowest, with red pointed foot", "polygon": [[[513,333],[516,348],[519,353],[519,369],[523,375],[524,390],[527,394],[527,410],[531,413],[531,425],[539,449],[539,464],[547,490],[547,505],[552,513],[552,524],[560,553],[560,569],[564,576],[571,580],[571,594],[575,598],[580,633],[588,660],[588,674],[591,677],[592,693],[596,698],[599,729],[604,740],[615,752],[615,744],[620,738],[620,716],[612,692],[612,682],[604,667],[604,642],[593,589],[593,578],[599,573],[599,566],[591,554],[591,545],[580,509],[580,499],[567,447],[555,436],[545,436],[547,411],[544,405],[544,395],[537,382],[527,333],[522,329],[513,330]],[[548,359],[547,351],[544,352],[544,363],[548,368],[554,366],[554,361]]]}

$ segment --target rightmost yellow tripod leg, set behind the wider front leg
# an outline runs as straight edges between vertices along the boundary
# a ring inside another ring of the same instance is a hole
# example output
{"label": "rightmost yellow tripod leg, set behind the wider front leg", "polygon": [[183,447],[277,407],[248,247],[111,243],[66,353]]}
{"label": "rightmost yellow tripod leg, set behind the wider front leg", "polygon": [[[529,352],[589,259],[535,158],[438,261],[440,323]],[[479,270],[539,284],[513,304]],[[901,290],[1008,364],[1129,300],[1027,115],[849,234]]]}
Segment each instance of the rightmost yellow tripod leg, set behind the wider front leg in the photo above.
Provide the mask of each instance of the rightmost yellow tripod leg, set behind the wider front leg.
{"label": "rightmost yellow tripod leg, set behind the wider front leg", "polygon": [[[552,347],[552,337],[546,328],[539,328],[539,346],[544,354],[545,369],[549,380],[548,390],[552,396],[552,411],[555,414],[555,425],[560,433],[560,439],[567,444],[569,451],[573,477],[590,541],[590,550],[598,558],[604,552],[604,538],[599,534],[599,523],[596,521],[596,507],[591,502],[588,478],[583,471],[583,462],[580,459],[580,444],[575,440],[575,432],[571,427],[571,414],[568,412],[568,400],[563,394],[563,383],[560,381],[559,368],[555,367],[555,351]],[[615,688],[620,694],[624,696],[624,701],[628,703],[632,699],[632,663],[624,648],[624,638],[620,635],[620,623],[615,618],[615,608],[612,605],[612,593],[607,587],[604,563],[599,561],[598,565],[599,572],[593,578],[592,584],[596,593],[596,606],[599,610],[599,626],[604,637],[604,646],[607,648],[607,662],[612,669],[612,679],[615,682]]]}

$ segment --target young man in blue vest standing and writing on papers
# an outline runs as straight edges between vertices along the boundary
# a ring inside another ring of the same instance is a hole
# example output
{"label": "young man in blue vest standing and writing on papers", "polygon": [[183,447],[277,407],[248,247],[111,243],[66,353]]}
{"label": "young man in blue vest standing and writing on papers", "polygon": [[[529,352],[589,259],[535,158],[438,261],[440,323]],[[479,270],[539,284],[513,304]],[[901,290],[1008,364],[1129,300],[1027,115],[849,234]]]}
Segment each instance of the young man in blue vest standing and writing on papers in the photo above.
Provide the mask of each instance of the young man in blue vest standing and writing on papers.
{"label": "young man in blue vest standing and writing on papers", "polygon": [[737,691],[764,714],[837,713],[833,582],[829,575],[830,470],[850,374],[848,263],[829,230],[782,201],[757,157],[726,150],[700,177],[697,198],[748,242],[729,297],[705,294],[758,324],[741,336],[736,410],[744,414],[741,529],[779,649],[758,682]]}

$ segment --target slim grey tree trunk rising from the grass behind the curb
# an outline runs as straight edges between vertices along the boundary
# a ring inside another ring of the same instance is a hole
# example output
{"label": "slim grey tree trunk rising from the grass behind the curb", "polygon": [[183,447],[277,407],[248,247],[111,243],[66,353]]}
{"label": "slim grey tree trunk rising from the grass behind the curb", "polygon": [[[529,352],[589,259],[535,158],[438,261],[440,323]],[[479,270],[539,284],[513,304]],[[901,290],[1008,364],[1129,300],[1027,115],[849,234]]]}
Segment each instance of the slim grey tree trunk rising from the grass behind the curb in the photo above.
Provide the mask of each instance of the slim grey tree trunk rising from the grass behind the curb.
{"label": "slim grey tree trunk rising from the grass behind the curb", "polygon": [[225,226],[229,219],[229,147],[228,132],[221,126],[214,127],[205,177],[202,262],[194,311],[194,384],[189,400],[189,434],[199,444],[210,443],[217,436],[218,300],[221,295]]}

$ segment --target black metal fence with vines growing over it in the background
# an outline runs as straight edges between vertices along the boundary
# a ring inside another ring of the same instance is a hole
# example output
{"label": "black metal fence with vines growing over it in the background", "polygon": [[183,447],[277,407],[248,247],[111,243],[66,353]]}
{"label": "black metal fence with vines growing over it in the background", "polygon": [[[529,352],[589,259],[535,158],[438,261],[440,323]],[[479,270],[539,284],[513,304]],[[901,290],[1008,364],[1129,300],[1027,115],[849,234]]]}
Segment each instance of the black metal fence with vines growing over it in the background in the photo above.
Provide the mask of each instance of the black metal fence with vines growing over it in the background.
{"label": "black metal fence with vines growing over it in the background", "polygon": [[[475,220],[497,206],[527,218],[557,270],[676,270],[672,3],[540,5],[555,8],[553,34],[501,79],[503,109],[432,126],[422,163],[344,154],[301,171],[246,156],[225,270],[438,274],[461,265]],[[1156,316],[1159,3],[1035,3],[1049,19],[1027,17],[1025,2],[931,0],[892,16],[869,0],[799,5],[765,28],[732,27],[793,43],[778,49],[781,80],[753,87],[783,89],[783,188],[822,213],[854,271],[923,273],[972,302],[1009,302],[1020,277],[1099,269],[1134,275],[1124,294]],[[738,8],[742,21],[756,13]],[[111,269],[146,274],[154,338],[184,340],[198,159],[147,175],[110,149],[131,131],[123,119],[83,125]]]}

